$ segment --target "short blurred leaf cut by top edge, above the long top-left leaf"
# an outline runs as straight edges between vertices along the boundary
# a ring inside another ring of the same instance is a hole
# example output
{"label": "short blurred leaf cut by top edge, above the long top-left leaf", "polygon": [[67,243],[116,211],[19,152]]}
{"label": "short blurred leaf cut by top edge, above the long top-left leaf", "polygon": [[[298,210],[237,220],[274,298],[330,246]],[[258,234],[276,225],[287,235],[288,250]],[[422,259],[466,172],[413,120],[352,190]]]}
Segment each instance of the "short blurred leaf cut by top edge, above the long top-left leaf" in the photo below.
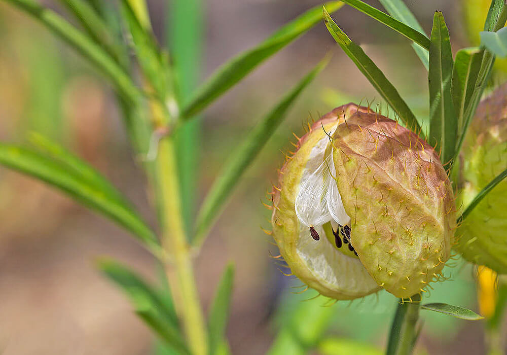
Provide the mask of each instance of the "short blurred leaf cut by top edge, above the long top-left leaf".
{"label": "short blurred leaf cut by top edge, above the long top-left leaf", "polygon": [[60,3],[74,13],[96,43],[101,44],[116,62],[122,62],[123,52],[121,47],[115,42],[116,39],[107,27],[107,24],[92,5],[83,0],[60,0]]}

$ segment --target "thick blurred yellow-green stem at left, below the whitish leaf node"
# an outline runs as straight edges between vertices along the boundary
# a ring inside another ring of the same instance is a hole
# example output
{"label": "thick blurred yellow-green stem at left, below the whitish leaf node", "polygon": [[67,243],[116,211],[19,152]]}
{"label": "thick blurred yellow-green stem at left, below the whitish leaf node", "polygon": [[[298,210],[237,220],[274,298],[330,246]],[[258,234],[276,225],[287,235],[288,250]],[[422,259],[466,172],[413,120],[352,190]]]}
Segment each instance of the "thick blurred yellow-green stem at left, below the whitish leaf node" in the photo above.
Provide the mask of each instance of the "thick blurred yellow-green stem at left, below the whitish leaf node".
{"label": "thick blurred yellow-green stem at left, below the whitish leaf node", "polygon": [[[177,303],[192,353],[206,355],[207,335],[183,224],[174,137],[167,136],[160,140],[155,166],[161,208],[162,243],[166,253],[172,257],[176,274],[176,285],[173,285],[172,290],[179,301]],[[171,266],[166,263],[168,273]]]}

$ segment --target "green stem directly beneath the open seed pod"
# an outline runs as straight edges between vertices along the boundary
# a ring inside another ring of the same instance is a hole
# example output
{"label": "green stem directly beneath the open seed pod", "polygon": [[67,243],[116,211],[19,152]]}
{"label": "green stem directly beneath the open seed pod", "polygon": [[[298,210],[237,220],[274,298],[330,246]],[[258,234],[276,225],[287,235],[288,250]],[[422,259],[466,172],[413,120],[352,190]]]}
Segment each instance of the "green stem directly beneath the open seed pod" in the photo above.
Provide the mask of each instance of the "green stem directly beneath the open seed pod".
{"label": "green stem directly beneath the open seed pod", "polygon": [[389,333],[387,355],[410,355],[418,336],[417,319],[419,318],[420,295],[412,300],[401,299]]}

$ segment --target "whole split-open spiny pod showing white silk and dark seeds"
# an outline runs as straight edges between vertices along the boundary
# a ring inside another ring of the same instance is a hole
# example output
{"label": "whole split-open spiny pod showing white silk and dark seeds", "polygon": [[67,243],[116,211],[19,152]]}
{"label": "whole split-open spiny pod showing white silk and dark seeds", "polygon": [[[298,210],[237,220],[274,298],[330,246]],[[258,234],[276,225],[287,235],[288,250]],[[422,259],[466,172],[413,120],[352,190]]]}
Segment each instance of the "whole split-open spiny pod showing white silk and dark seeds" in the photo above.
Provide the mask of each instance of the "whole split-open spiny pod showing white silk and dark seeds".
{"label": "whole split-open spiny pod showing white silk and dark seeds", "polygon": [[451,184],[407,128],[347,104],[299,139],[273,190],[273,237],[292,273],[320,294],[381,288],[410,298],[440,277],[455,229]]}

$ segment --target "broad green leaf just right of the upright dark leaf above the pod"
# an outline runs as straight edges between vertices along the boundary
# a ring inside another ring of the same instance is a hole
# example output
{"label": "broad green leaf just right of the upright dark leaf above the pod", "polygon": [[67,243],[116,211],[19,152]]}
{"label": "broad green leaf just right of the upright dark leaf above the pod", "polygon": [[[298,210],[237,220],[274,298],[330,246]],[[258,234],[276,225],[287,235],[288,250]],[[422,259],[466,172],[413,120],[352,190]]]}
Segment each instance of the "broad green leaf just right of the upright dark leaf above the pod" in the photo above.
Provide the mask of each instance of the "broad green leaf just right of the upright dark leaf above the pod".
{"label": "broad green leaf just right of the upright dark leaf above the pod", "polygon": [[458,132],[463,129],[466,105],[475,89],[483,53],[477,47],[463,48],[458,51],[454,60],[451,94],[458,119]]}

